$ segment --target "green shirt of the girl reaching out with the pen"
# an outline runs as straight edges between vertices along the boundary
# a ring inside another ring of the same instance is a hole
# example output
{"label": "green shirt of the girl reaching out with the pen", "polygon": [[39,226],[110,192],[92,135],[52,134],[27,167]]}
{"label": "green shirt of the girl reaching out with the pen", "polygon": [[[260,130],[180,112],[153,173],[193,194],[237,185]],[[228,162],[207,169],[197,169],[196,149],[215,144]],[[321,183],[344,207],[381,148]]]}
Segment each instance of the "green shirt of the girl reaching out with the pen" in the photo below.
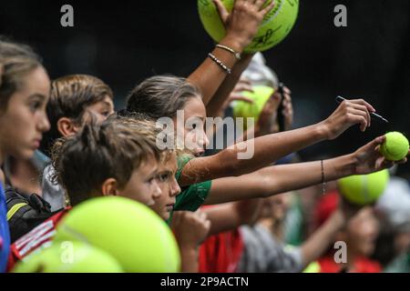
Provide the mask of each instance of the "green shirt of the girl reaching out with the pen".
{"label": "green shirt of the girl reaching out with the pen", "polygon": [[[177,181],[182,173],[184,166],[192,159],[190,156],[182,156],[178,160],[178,171],[175,174]],[[205,181],[190,186],[181,188],[181,192],[176,198],[176,203],[173,211],[188,210],[196,211],[204,203],[205,199],[210,194],[211,181]],[[170,214],[169,223],[172,219],[172,213]]]}

